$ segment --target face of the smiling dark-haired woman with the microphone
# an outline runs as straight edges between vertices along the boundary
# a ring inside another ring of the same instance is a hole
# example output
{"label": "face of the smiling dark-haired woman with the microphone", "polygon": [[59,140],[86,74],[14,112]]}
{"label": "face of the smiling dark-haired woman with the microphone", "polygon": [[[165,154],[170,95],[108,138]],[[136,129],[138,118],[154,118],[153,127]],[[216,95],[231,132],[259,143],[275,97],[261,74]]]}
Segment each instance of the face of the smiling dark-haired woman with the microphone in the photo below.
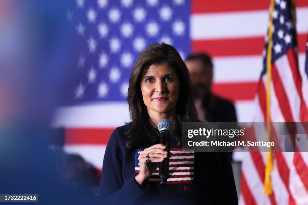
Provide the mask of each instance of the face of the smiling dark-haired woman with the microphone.
{"label": "face of the smiling dark-haired woman with the microphone", "polygon": [[174,111],[179,98],[180,83],[173,68],[166,64],[151,65],[141,80],[141,92],[148,112]]}

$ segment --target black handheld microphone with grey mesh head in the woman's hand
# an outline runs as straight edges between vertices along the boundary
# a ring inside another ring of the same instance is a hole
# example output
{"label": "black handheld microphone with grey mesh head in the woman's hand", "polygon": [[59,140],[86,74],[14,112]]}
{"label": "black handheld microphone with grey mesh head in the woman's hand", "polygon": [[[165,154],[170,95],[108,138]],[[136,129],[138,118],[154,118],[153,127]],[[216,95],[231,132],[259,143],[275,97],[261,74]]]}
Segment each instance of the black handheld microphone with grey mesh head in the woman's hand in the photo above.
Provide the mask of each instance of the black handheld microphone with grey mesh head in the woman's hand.
{"label": "black handheld microphone with grey mesh head in the woman's hand", "polygon": [[160,142],[166,146],[167,158],[164,161],[160,162],[159,165],[159,176],[160,184],[166,185],[167,178],[169,177],[169,152],[170,152],[170,131],[172,124],[169,120],[163,119],[160,120],[157,124],[157,128],[160,131]]}

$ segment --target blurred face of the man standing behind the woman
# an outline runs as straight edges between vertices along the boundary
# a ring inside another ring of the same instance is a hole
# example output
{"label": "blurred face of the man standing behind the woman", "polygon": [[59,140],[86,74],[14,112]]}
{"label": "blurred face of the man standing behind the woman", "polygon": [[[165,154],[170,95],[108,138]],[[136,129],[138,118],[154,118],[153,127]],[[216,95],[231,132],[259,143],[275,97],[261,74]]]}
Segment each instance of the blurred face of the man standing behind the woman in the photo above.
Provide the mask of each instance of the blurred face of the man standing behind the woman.
{"label": "blurred face of the man standing behind the woman", "polygon": [[196,97],[201,99],[210,92],[213,72],[209,65],[204,66],[200,60],[186,61]]}

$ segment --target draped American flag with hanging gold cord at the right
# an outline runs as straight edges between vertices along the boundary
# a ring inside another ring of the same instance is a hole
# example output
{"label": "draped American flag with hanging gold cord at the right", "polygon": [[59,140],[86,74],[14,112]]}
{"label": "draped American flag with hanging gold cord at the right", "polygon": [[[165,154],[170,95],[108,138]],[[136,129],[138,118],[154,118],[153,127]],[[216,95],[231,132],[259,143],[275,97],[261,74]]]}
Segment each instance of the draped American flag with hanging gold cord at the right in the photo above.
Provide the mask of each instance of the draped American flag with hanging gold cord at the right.
{"label": "draped American flag with hanging gold cord at the right", "polygon": [[[292,1],[271,2],[254,120],[307,122],[303,95],[307,73],[298,66],[295,5]],[[307,204],[307,162],[307,152],[246,153],[241,204]]]}

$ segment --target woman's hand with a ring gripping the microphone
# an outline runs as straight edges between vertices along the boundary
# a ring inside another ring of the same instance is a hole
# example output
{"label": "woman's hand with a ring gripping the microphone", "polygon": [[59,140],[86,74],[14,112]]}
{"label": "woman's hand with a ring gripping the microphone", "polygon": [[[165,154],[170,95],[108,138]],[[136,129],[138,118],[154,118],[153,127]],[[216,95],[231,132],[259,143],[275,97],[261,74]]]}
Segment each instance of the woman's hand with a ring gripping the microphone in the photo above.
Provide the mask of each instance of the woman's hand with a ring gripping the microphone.
{"label": "woman's hand with a ring gripping the microphone", "polygon": [[[136,181],[141,185],[148,179],[152,173],[157,169],[158,163],[167,158],[166,146],[163,144],[156,144],[148,147],[140,152],[139,155],[139,174],[136,175]],[[148,156],[148,157],[147,157]],[[146,161],[148,159],[148,161]]]}

